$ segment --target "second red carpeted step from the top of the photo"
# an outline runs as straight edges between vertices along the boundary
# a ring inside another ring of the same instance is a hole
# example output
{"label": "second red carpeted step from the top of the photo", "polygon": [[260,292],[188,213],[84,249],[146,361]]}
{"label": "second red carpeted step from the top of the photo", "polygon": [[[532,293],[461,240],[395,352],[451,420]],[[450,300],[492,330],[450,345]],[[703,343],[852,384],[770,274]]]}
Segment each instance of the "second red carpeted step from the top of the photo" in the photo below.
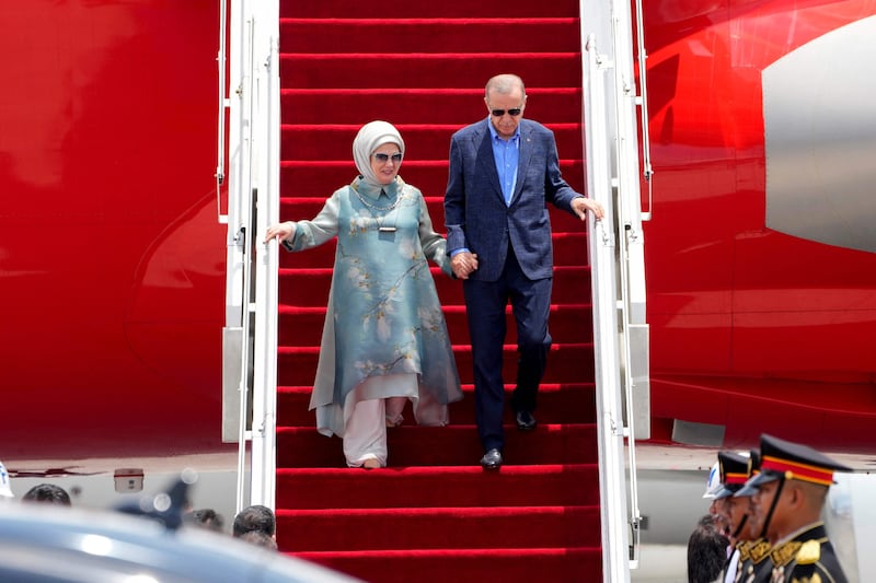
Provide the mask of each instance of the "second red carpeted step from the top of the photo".
{"label": "second red carpeted step from the top of the photo", "polygon": [[[331,35],[326,35],[331,28]],[[283,19],[288,53],[335,53],[361,47],[376,55],[400,53],[576,51],[576,18]],[[531,39],[531,40],[530,40]]]}

